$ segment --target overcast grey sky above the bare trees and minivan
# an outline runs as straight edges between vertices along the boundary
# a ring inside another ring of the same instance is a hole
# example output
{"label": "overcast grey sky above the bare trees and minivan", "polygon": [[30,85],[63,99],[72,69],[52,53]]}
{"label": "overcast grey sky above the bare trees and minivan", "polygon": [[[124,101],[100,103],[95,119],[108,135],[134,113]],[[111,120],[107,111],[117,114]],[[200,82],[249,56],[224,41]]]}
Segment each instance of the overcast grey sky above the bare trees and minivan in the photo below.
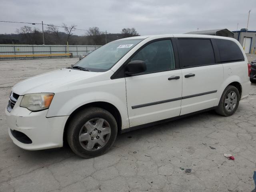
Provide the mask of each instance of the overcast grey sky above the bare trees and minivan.
{"label": "overcast grey sky above the bare trees and minivan", "polygon": [[[120,33],[135,28],[140,35],[180,34],[227,28],[256,30],[256,0],[1,0],[0,20],[54,24]],[[30,25],[42,30],[42,25]],[[0,22],[0,34],[24,24]],[[47,26],[44,26],[44,30]],[[60,31],[63,31],[60,29]],[[76,30],[74,34],[84,35]]]}

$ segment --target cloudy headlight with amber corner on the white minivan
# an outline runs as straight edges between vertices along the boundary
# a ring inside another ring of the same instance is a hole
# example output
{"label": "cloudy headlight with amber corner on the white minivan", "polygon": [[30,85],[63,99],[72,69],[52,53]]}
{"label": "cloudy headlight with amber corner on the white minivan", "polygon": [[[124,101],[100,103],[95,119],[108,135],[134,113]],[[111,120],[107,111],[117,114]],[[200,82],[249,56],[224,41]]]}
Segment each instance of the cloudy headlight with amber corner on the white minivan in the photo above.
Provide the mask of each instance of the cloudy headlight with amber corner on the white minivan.
{"label": "cloudy headlight with amber corner on the white minivan", "polygon": [[32,93],[25,94],[20,102],[20,107],[30,111],[41,111],[48,109],[53,98],[53,93]]}

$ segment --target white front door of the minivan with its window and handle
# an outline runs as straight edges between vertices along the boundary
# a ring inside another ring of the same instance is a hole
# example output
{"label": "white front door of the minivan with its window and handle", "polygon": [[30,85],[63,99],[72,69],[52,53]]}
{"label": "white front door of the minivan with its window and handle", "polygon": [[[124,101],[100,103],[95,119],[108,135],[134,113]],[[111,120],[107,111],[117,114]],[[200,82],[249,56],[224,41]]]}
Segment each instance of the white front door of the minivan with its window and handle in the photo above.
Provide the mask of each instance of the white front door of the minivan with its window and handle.
{"label": "white front door of the minivan with its window and handle", "polygon": [[131,60],[145,61],[147,70],[125,78],[130,127],[179,116],[182,74],[171,40],[151,42]]}

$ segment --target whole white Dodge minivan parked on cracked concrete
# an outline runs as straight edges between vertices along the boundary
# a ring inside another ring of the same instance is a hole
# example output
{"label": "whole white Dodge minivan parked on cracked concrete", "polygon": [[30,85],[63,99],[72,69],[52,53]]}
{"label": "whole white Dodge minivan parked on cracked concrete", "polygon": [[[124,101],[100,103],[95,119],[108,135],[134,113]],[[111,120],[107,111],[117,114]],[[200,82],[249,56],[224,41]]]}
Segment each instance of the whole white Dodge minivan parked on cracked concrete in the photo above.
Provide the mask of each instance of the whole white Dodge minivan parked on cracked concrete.
{"label": "whole white Dodge minivan parked on cracked concrete", "polygon": [[110,42],[69,68],[12,88],[5,110],[13,142],[105,153],[118,132],[214,109],[232,115],[250,89],[248,61],[234,38],[194,34]]}

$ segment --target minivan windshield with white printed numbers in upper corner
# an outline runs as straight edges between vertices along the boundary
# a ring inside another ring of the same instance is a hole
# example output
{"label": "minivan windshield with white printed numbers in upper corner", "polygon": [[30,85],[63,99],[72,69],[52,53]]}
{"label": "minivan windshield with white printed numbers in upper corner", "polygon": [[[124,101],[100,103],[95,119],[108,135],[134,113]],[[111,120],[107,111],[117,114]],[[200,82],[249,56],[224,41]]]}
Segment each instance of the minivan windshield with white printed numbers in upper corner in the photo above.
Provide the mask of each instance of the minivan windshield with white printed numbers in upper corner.
{"label": "minivan windshield with white printed numbers in upper corner", "polygon": [[144,39],[112,41],[88,54],[75,66],[93,72],[104,72],[112,68],[128,51]]}

